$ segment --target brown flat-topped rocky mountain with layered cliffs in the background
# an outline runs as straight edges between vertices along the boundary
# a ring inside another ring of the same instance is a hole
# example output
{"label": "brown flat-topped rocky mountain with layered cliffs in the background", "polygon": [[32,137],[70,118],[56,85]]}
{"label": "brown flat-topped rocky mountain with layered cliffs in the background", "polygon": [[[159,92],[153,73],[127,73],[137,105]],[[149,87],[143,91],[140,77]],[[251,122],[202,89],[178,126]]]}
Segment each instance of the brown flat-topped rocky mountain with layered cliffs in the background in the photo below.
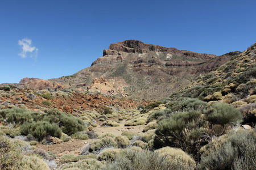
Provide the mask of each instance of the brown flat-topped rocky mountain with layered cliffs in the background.
{"label": "brown flat-topped rocky mountain with layered cliffs in the background", "polygon": [[217,57],[127,40],[104,49],[103,57],[94,61],[92,66],[71,76],[51,80],[67,87],[87,89],[94,78],[102,76],[114,87],[122,82],[121,87],[131,97],[162,99],[170,92],[189,86],[197,75],[208,73],[239,53]]}

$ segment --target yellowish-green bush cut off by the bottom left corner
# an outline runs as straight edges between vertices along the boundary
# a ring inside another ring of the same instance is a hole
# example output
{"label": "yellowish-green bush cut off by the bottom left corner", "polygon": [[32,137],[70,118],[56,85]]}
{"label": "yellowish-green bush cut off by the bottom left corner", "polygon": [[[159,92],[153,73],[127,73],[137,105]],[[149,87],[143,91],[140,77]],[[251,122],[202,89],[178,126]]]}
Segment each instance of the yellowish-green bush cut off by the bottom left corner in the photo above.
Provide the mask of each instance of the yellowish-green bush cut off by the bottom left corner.
{"label": "yellowish-green bush cut off by the bottom left corner", "polygon": [[0,136],[0,169],[18,169],[22,160],[20,150],[6,137]]}

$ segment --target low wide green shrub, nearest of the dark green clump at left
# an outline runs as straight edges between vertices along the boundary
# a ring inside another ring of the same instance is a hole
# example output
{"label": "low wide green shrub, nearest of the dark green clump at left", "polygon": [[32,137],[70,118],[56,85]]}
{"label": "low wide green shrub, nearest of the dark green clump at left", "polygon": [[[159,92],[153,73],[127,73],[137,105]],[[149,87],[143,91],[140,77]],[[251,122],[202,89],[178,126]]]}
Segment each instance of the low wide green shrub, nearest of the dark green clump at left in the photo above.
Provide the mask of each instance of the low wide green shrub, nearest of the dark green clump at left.
{"label": "low wide green shrub, nearest of the dark green clump at left", "polygon": [[20,133],[23,135],[31,134],[33,137],[37,138],[39,141],[42,141],[44,137],[50,135],[52,137],[61,137],[61,129],[56,124],[50,124],[46,121],[38,122],[25,122],[20,126]]}

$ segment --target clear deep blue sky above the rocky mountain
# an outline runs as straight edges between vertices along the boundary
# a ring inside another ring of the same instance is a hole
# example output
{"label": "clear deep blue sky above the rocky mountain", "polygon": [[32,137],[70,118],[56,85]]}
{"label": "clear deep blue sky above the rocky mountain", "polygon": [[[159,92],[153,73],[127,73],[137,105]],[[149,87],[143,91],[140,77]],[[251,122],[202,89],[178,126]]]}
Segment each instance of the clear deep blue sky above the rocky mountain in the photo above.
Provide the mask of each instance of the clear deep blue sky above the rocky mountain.
{"label": "clear deep blue sky above the rocky mountain", "polygon": [[129,39],[217,55],[242,51],[256,40],[255,6],[254,0],[1,0],[0,83],[71,75],[111,43]]}

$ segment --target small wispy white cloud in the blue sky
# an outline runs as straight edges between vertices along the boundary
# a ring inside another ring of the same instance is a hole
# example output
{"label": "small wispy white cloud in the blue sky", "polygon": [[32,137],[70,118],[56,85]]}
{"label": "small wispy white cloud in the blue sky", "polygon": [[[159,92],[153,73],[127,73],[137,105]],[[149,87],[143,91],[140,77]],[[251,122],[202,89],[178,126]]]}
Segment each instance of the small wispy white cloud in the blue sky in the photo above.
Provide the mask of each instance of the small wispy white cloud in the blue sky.
{"label": "small wispy white cloud in the blue sky", "polygon": [[30,57],[38,56],[38,48],[32,46],[32,41],[30,39],[22,39],[18,41],[18,45],[22,46],[22,52],[19,53],[19,56],[26,58],[27,54],[30,53]]}

